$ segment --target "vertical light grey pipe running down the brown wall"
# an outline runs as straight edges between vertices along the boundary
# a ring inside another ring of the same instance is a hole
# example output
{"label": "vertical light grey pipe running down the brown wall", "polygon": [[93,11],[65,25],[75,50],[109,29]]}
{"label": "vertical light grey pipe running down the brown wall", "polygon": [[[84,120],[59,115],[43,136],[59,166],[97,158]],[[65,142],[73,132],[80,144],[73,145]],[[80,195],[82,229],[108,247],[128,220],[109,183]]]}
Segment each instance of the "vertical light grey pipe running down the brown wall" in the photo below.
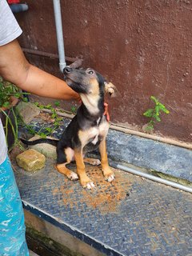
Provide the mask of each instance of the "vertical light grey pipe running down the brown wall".
{"label": "vertical light grey pipe running down the brown wall", "polygon": [[63,40],[63,34],[62,34],[62,12],[61,12],[60,0],[53,0],[53,4],[54,4],[54,20],[55,20],[57,41],[58,41],[59,68],[61,72],[63,72],[64,67],[66,67],[66,58],[65,58],[65,50],[64,50],[64,40]]}

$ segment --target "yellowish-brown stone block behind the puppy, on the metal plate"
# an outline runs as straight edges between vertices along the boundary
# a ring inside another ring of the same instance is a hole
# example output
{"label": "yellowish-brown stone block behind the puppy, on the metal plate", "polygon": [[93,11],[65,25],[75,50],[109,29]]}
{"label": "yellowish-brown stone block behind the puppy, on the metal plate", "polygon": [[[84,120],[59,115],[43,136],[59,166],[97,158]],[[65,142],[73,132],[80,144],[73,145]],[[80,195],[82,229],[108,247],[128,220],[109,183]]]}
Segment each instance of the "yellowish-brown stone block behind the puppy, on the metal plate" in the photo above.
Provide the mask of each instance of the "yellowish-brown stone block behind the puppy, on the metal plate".
{"label": "yellowish-brown stone block behind the puppy, on the metal plate", "polygon": [[24,170],[34,172],[42,169],[46,164],[46,157],[37,150],[26,150],[16,157],[18,166]]}

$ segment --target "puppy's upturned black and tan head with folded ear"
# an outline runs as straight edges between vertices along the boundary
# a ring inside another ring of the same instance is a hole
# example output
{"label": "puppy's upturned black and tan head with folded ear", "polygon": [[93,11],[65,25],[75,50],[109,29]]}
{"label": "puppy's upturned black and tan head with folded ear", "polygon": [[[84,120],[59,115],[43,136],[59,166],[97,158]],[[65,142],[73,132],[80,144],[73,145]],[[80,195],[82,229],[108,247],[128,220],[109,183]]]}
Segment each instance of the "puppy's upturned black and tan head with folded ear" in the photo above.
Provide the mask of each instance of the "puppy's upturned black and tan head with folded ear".
{"label": "puppy's upturned black and tan head with folded ear", "polygon": [[77,70],[66,66],[63,73],[67,85],[78,94],[102,96],[108,93],[111,97],[115,96],[116,87],[111,82],[106,82],[102,74],[91,68]]}

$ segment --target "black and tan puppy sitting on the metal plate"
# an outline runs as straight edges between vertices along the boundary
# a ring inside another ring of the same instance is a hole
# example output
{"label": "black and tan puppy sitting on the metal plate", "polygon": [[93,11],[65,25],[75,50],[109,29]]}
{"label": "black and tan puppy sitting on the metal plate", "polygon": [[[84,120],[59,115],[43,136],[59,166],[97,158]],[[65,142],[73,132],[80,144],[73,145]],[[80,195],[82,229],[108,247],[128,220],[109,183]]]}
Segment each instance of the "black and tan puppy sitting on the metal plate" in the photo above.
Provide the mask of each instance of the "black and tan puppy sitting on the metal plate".
{"label": "black and tan puppy sitting on the metal plate", "polygon": [[[115,86],[106,82],[101,74],[93,69],[76,70],[69,66],[64,69],[66,83],[82,98],[82,105],[78,113],[70,122],[57,142],[56,169],[71,180],[80,178],[83,187],[94,188],[94,182],[86,175],[84,162],[93,165],[102,164],[104,178],[108,182],[114,180],[114,173],[110,170],[106,153],[106,135],[109,122],[104,116],[104,94],[114,94]],[[35,142],[42,142],[42,139]],[[49,141],[49,140],[46,140]],[[29,143],[28,143],[29,144]],[[84,158],[84,154],[99,148],[101,162],[98,159]],[[75,161],[77,174],[69,170],[66,165]]]}

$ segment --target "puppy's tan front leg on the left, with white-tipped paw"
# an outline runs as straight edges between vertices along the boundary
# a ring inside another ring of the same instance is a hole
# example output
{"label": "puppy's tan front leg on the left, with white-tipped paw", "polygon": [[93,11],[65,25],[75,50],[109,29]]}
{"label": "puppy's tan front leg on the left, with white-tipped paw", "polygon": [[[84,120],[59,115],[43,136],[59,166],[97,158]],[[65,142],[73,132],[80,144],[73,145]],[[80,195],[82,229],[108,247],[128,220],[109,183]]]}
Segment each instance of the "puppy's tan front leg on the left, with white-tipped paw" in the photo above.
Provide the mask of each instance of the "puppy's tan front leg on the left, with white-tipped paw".
{"label": "puppy's tan front leg on the left, with white-tipped paw", "polygon": [[77,165],[77,173],[80,178],[82,187],[87,188],[89,190],[93,189],[94,183],[86,175],[85,164],[83,162],[82,148],[74,149],[74,158]]}

